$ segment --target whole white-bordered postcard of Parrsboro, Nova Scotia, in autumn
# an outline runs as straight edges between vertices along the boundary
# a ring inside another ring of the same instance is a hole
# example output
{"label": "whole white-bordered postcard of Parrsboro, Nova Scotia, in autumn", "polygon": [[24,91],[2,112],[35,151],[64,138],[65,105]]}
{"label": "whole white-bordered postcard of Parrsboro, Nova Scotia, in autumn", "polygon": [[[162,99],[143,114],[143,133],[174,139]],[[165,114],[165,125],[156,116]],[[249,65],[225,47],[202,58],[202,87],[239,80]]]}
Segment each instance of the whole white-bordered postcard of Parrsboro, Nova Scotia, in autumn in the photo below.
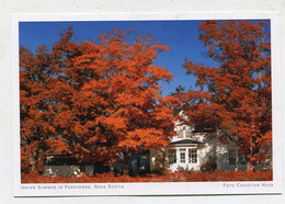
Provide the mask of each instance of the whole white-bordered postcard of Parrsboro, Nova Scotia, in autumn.
{"label": "whole white-bordered postcard of Parrsboro, Nova Scotia, in autumn", "polygon": [[14,14],[14,196],[281,193],[278,14]]}

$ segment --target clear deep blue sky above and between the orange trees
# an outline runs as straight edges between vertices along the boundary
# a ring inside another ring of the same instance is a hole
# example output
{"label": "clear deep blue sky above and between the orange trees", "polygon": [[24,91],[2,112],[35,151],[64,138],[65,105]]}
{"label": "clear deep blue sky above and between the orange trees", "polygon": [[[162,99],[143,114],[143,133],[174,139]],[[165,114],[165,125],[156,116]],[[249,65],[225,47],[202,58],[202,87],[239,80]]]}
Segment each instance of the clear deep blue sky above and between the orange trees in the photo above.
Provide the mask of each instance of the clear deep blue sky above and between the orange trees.
{"label": "clear deep blue sky above and between the orange trees", "polygon": [[113,29],[132,29],[134,34],[148,33],[170,50],[162,52],[155,60],[156,65],[167,68],[172,75],[170,83],[161,82],[162,94],[175,91],[178,86],[195,87],[195,78],[185,75],[182,68],[187,57],[193,63],[216,66],[205,57],[206,48],[198,37],[198,23],[202,21],[92,21],[92,22],[21,22],[19,24],[20,45],[35,52],[41,45],[48,48],[59,39],[59,32],[72,25],[78,42],[96,41],[99,34]]}

